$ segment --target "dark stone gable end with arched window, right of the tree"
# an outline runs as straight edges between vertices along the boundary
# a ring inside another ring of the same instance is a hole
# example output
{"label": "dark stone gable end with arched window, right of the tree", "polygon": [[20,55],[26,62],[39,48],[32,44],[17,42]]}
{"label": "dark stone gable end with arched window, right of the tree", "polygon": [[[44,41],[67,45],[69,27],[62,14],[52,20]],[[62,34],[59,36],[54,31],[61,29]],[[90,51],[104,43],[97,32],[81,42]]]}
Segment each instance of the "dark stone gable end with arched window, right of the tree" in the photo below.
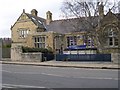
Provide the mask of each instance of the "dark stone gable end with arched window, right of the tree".
{"label": "dark stone gable end with arched window, right of the tree", "polygon": [[102,37],[103,52],[116,53],[120,49],[120,14],[114,14],[109,10],[102,18],[98,32]]}

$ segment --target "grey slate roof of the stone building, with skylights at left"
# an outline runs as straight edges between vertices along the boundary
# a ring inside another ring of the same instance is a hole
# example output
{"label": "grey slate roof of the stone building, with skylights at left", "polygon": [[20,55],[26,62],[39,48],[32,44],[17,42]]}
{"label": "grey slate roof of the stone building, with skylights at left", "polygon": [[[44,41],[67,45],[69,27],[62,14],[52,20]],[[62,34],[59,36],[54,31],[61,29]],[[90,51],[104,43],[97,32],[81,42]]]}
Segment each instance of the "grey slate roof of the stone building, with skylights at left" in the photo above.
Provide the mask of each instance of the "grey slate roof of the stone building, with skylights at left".
{"label": "grey slate roof of the stone building, with skylights at left", "polygon": [[[89,30],[89,25],[86,24],[87,27],[85,27],[83,24],[81,24],[85,20],[81,20],[78,18],[72,18],[72,19],[61,19],[61,20],[54,20],[51,21],[49,25],[46,25],[46,20],[41,17],[34,16],[32,14],[26,13],[29,18],[37,25],[39,28],[43,28],[46,31],[53,31],[57,33],[71,33],[71,32],[78,32],[78,31],[85,31],[85,29]],[[120,20],[120,14],[115,14],[117,18]],[[106,15],[105,15],[106,16]],[[82,18],[85,19],[85,18]],[[98,25],[98,17],[93,17],[93,24],[95,26]],[[77,25],[77,26],[74,26]]]}

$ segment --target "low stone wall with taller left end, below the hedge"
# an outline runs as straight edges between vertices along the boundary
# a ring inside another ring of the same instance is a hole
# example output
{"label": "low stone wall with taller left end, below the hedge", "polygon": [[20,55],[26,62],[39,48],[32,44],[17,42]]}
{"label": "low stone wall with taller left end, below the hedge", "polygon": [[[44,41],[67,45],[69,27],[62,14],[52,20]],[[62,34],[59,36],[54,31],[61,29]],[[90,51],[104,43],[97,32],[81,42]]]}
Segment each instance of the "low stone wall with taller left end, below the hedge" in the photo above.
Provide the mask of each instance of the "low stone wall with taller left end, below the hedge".
{"label": "low stone wall with taller left end, below the hedge", "polygon": [[21,46],[12,45],[11,47],[11,60],[22,62],[41,62],[42,53],[22,53]]}

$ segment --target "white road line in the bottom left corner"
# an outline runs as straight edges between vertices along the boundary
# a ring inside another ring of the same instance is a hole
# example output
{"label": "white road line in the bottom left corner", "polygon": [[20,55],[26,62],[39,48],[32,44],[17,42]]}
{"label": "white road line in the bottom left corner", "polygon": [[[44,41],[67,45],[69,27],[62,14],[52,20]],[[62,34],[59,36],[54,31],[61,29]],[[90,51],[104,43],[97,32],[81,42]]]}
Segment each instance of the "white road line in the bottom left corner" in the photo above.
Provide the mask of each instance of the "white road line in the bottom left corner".
{"label": "white road line in the bottom left corner", "polygon": [[28,85],[15,85],[15,84],[2,84],[3,88],[46,88],[40,86],[28,86]]}

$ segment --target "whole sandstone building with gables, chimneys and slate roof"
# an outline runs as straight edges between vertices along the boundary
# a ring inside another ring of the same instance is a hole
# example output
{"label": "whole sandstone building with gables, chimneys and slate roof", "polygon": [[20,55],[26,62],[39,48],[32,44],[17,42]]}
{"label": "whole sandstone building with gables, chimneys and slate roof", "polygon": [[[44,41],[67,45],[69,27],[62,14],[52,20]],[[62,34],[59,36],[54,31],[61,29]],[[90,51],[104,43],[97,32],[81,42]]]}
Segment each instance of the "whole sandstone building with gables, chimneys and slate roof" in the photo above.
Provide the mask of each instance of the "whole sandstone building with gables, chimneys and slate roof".
{"label": "whole sandstone building with gables, chimneys and slate roof", "polygon": [[[84,37],[86,32],[80,23],[78,23],[79,31],[73,27],[72,23],[76,23],[77,20],[77,18],[52,20],[50,11],[46,13],[46,19],[44,19],[38,16],[36,9],[33,9],[31,14],[23,10],[17,21],[11,26],[12,48],[16,46],[48,48],[60,53],[71,45],[91,46],[93,42],[91,38]],[[118,53],[120,13],[114,14],[109,10],[104,15],[104,7],[101,5],[95,23],[98,24],[96,30],[102,37],[103,52]]]}

